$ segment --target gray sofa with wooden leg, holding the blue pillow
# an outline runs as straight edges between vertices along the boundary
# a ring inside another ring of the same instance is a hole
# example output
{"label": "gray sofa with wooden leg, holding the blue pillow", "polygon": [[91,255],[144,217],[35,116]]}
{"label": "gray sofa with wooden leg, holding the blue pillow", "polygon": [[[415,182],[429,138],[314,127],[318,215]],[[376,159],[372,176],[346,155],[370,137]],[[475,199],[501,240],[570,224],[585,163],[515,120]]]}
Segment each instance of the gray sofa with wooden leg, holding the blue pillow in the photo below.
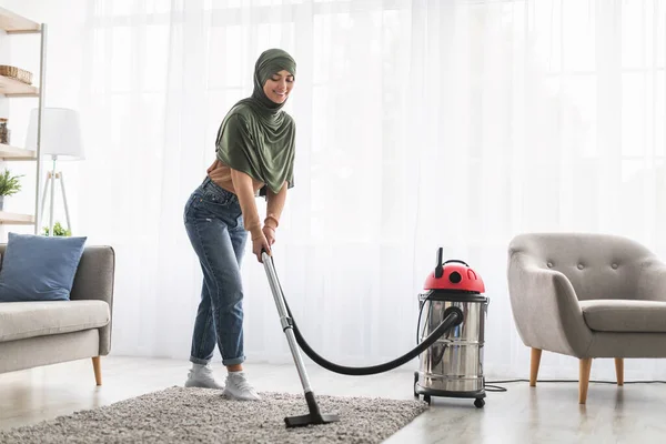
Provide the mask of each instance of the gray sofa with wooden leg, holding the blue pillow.
{"label": "gray sofa with wooden leg, holding the blue pillow", "polygon": [[[7,244],[0,244],[4,254]],[[0,373],[92,359],[102,384],[100,356],[111,349],[115,254],[87,246],[70,301],[0,303]]]}

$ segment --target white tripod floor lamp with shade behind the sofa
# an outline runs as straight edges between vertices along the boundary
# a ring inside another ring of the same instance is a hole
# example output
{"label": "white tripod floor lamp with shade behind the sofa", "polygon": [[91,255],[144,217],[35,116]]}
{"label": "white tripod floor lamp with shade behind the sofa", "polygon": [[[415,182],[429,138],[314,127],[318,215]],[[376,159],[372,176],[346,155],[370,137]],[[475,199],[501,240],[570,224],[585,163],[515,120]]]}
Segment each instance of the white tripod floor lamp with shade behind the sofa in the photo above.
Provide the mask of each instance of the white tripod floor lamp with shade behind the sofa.
{"label": "white tripod floor lamp with shade behind the sofa", "polygon": [[52,160],[50,170],[47,170],[47,180],[42,194],[40,218],[44,212],[44,203],[50,188],[49,205],[49,234],[53,235],[53,209],[56,200],[56,182],[60,181],[62,191],[62,202],[64,204],[64,214],[67,218],[67,228],[71,231],[72,224],[67,204],[67,193],[64,191],[64,178],[62,171],[56,170],[56,163],[59,160],[82,160],[83,143],[81,143],[81,124],[79,113],[67,108],[44,108],[42,112],[41,127],[39,127],[39,110],[32,110],[30,123],[28,125],[28,139],[26,147],[37,150],[37,130],[41,128],[41,155],[49,155]]}

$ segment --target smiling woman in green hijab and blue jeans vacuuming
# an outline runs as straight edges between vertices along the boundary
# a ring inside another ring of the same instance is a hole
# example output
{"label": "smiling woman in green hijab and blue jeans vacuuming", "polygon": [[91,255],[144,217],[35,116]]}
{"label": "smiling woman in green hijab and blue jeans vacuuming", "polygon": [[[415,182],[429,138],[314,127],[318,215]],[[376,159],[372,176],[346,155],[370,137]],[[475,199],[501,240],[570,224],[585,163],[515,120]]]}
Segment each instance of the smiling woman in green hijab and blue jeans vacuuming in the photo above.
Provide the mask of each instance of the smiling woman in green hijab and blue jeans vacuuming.
{"label": "smiling woman in green hijab and blue jeans vacuuming", "polygon": [[[285,51],[271,49],[260,56],[252,97],[234,104],[222,121],[216,159],[185,205],[185,229],[203,271],[185,386],[223,389],[233,398],[260,400],[242,366],[240,268],[248,233],[259,262],[262,250],[271,254],[286,191],[293,186],[295,125],[282,107],[295,71]],[[254,201],[260,191],[268,201],[263,226]],[[210,367],[215,343],[228,370],[224,386]]]}

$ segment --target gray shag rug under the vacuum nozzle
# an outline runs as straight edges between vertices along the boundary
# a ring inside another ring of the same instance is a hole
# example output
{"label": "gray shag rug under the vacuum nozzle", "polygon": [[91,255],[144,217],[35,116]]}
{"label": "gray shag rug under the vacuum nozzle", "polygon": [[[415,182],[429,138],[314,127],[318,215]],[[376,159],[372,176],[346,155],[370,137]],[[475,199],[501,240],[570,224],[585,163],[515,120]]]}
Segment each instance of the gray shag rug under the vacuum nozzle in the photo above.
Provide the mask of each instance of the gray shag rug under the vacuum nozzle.
{"label": "gray shag rug under the vacuum nozzle", "polygon": [[381,443],[427,408],[423,401],[316,395],[340,422],[286,428],[307,413],[302,394],[261,393],[262,401],[209,389],[170,387],[39,424],[0,431],[0,443]]}

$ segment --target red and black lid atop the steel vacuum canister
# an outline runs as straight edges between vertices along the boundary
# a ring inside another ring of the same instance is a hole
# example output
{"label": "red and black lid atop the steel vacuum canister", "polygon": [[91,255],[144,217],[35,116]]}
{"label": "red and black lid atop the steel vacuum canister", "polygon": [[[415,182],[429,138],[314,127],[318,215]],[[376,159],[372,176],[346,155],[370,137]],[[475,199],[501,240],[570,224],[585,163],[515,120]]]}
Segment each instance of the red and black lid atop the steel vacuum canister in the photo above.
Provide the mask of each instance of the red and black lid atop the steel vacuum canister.
{"label": "red and black lid atop the steel vacuum canister", "polygon": [[424,290],[454,290],[471,293],[484,293],[483,279],[460,260],[442,263],[442,249],[437,253],[437,266],[426,278]]}

